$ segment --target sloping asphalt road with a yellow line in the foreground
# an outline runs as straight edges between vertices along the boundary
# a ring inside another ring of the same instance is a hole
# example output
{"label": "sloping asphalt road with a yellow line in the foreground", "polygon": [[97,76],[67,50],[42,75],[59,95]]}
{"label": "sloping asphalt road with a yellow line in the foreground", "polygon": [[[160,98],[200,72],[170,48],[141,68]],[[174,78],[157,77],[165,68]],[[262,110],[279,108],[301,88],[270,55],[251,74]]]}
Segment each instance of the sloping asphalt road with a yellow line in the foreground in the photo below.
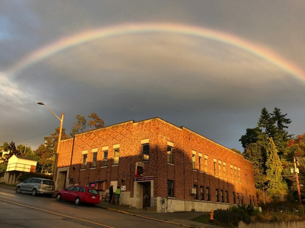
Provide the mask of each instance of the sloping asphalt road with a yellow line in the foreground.
{"label": "sloping asphalt road with a yellow line in the foreground", "polygon": [[76,206],[47,196],[17,194],[0,188],[0,227],[12,228],[83,228],[83,227],[181,227],[157,222],[91,205]]}

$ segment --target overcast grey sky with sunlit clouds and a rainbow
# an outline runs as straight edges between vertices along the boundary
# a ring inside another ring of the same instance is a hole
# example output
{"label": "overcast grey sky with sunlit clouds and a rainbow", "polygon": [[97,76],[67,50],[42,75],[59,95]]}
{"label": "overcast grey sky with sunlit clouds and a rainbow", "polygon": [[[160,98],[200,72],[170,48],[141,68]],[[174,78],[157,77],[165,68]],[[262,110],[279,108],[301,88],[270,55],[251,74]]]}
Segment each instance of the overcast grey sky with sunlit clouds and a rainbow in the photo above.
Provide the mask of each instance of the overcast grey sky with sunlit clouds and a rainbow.
{"label": "overcast grey sky with sunlit clouds and a rainbow", "polygon": [[303,0],[2,0],[0,143],[44,143],[38,101],[68,135],[77,114],[160,117],[242,151],[263,107],[303,134],[304,21]]}

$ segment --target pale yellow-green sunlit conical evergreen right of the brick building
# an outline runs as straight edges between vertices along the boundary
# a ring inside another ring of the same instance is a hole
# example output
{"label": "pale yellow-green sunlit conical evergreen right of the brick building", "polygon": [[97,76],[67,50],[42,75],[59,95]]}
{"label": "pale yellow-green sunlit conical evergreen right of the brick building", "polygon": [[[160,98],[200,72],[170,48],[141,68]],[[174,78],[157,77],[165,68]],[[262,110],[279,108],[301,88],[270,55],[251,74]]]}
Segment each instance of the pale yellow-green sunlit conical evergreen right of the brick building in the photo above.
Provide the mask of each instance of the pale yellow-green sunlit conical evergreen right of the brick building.
{"label": "pale yellow-green sunlit conical evergreen right of the brick building", "polygon": [[283,181],[282,171],[283,166],[278,156],[278,150],[272,138],[269,138],[269,144],[267,147],[267,162],[266,162],[266,174],[268,180],[268,192],[269,194],[276,196],[279,192],[287,190],[287,184]]}

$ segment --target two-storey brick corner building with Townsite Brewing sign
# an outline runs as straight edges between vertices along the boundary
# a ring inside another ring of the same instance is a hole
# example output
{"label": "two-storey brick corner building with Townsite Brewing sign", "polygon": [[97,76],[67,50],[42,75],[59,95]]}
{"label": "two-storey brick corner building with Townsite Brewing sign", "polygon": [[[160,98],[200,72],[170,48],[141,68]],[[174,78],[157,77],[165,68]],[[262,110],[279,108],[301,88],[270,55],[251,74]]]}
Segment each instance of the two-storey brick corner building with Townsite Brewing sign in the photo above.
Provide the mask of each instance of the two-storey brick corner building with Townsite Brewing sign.
{"label": "two-storey brick corner building with Townsite Brewing sign", "polygon": [[57,167],[57,188],[70,181],[95,186],[105,195],[113,183],[121,187],[120,204],[157,212],[164,206],[173,212],[210,211],[257,202],[251,162],[160,118],[63,140]]}

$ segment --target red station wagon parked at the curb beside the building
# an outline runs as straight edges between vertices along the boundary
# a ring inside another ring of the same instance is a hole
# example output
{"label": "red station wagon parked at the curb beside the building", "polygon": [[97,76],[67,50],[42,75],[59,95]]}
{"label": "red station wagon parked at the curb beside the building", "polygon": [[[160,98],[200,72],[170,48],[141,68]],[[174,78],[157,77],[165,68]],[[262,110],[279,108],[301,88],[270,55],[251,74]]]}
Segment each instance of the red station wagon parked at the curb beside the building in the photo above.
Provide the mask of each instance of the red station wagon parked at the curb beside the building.
{"label": "red station wagon parked at the curb beside the building", "polygon": [[59,190],[56,193],[57,200],[68,200],[74,202],[76,205],[82,203],[99,204],[99,192],[95,188],[84,186],[71,186],[67,189]]}

